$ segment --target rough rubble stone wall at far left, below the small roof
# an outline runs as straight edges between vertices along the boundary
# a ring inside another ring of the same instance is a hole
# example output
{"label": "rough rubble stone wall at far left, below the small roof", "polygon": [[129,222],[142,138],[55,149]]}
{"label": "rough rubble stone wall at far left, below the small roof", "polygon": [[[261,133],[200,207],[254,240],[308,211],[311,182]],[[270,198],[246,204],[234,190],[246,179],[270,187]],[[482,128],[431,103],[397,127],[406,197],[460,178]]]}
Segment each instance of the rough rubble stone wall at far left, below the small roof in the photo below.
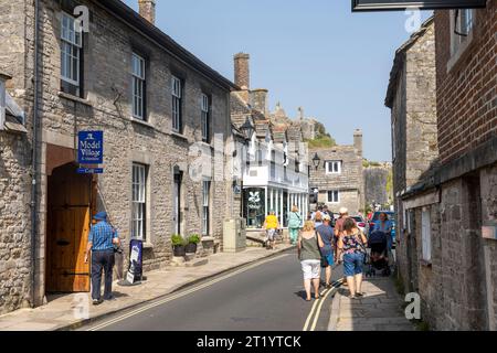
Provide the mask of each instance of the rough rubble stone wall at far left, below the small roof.
{"label": "rough rubble stone wall at far left, below the small roof", "polygon": [[0,314],[28,306],[31,156],[25,136],[0,131]]}

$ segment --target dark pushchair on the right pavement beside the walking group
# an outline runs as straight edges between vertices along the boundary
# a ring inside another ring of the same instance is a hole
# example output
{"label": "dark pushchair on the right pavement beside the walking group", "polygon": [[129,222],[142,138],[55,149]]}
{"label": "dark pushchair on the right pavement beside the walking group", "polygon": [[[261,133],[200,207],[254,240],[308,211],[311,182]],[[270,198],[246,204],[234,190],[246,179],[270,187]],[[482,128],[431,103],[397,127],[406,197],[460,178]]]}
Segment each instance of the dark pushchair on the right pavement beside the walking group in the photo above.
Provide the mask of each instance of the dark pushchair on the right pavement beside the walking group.
{"label": "dark pushchair on the right pavement beside the walking group", "polygon": [[366,277],[374,277],[378,272],[384,277],[390,276],[387,234],[384,232],[371,233],[368,239],[368,247],[369,256],[366,264]]}

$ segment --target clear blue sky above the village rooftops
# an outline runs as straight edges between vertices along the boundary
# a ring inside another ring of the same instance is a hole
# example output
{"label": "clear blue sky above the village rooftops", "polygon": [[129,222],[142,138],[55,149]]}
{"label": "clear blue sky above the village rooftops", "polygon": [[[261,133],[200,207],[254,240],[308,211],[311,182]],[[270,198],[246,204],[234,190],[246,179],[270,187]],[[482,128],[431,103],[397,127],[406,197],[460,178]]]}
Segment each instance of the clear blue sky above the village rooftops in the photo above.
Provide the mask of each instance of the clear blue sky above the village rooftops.
{"label": "clear blue sky above the village rooftops", "polygon": [[362,128],[364,157],[376,161],[391,160],[383,101],[406,19],[352,13],[350,0],[157,1],[157,25],[203,62],[233,79],[233,54],[250,53],[251,86],[269,89],[272,109],[281,101],[296,117],[303,106],[338,143]]}

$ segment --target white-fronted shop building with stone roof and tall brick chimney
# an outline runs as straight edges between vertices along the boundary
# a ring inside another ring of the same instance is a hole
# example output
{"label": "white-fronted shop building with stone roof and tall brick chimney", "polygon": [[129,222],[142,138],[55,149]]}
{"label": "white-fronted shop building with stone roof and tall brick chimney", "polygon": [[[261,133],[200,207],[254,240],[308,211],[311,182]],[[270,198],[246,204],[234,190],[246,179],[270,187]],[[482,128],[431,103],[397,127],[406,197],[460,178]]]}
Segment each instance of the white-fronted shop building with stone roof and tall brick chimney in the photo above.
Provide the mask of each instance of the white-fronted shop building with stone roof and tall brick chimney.
{"label": "white-fronted shop building with stone roof and tall brick chimney", "polygon": [[271,113],[268,90],[251,89],[250,55],[234,56],[235,84],[241,90],[232,93],[231,117],[240,129],[253,127],[247,156],[243,161],[242,215],[250,235],[261,234],[264,218],[274,210],[282,227],[287,227],[288,213],[297,205],[304,216],[308,211],[307,151],[298,121],[289,119],[282,108]]}

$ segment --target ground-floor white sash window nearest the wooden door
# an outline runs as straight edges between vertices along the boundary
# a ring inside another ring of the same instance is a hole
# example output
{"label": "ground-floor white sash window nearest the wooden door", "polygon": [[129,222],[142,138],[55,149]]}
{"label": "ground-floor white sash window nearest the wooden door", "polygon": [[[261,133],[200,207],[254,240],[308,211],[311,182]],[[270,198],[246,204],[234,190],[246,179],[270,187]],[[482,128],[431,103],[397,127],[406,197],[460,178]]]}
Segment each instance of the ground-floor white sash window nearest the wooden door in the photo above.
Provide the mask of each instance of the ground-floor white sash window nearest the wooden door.
{"label": "ground-floor white sash window nearest the wooden door", "polygon": [[133,163],[131,238],[147,239],[147,173],[148,167]]}

